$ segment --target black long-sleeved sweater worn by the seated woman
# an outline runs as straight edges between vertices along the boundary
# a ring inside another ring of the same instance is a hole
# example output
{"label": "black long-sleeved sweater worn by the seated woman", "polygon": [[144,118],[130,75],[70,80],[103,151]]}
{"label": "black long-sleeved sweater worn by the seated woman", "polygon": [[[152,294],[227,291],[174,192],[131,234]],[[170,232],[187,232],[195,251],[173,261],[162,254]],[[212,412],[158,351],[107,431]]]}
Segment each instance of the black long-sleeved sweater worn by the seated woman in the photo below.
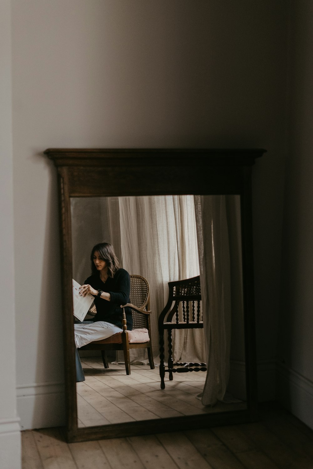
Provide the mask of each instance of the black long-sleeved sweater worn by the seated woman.
{"label": "black long-sleeved sweater worn by the seated woman", "polygon": [[[96,272],[84,281],[96,290],[102,290],[111,295],[111,301],[95,297],[94,304],[97,313],[93,321],[106,321],[115,324],[122,329],[122,308],[121,304],[130,302],[130,274],[124,269],[118,269],[113,279],[108,277],[106,282],[100,280],[99,273]],[[125,308],[127,329],[132,329],[131,309]]]}

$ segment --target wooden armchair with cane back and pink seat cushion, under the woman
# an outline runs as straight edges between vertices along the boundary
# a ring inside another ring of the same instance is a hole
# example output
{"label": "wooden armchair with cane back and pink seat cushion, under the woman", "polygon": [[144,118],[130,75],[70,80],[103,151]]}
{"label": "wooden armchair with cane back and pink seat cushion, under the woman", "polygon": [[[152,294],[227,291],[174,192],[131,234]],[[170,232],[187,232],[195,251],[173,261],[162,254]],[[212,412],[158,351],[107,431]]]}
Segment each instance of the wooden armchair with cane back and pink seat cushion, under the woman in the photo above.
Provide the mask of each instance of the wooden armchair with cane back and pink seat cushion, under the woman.
{"label": "wooden armchair with cane back and pink seat cushion, under the woman", "polygon": [[107,362],[107,350],[123,350],[126,374],[130,375],[130,348],[146,348],[150,368],[154,369],[151,347],[150,327],[150,286],[148,281],[140,275],[130,275],[130,303],[132,310],[133,328],[127,330],[125,310],[123,310],[123,331],[104,340],[96,340],[78,350],[101,350],[102,361],[105,368],[109,368]]}

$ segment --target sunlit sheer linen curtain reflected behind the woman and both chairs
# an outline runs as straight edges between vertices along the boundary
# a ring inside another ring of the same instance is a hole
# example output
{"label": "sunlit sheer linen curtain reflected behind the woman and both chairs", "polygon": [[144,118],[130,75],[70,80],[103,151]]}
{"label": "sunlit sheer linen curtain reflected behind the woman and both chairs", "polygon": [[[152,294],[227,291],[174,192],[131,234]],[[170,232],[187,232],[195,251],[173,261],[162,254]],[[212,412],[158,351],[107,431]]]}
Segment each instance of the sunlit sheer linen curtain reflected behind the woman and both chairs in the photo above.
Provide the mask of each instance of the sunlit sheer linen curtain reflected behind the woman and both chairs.
{"label": "sunlit sheer linen curtain reflected behind the woman and both chairs", "polygon": [[[105,201],[110,242],[122,267],[150,284],[153,356],[158,363],[158,317],[168,300],[168,282],[199,274],[193,196],[109,197]],[[203,361],[203,330],[177,331],[175,361]],[[146,352],[130,350],[132,363],[147,363]],[[118,360],[122,361],[121,355]]]}

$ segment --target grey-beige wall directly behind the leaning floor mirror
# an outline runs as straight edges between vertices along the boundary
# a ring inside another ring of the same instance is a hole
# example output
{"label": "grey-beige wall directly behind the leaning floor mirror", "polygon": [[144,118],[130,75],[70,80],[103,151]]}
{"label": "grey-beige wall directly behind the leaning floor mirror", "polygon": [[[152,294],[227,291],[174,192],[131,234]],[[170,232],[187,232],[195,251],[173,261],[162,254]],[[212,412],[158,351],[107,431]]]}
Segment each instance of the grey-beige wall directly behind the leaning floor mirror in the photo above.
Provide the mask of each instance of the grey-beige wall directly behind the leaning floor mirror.
{"label": "grey-beige wall directly behind the leaning floor mirror", "polygon": [[12,0],[16,354],[23,428],[63,423],[48,147],[264,147],[253,169],[261,398],[274,396],[284,105],[279,0]]}

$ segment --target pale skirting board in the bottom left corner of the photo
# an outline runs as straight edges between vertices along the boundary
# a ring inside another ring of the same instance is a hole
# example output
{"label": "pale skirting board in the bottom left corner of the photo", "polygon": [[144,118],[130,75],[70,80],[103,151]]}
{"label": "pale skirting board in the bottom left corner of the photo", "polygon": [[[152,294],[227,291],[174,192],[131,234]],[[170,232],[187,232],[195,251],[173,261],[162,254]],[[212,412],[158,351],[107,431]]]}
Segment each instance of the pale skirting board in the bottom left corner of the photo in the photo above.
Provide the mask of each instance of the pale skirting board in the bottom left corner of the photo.
{"label": "pale skirting board in the bottom left corner of the photo", "polygon": [[0,468],[20,469],[21,432],[19,418],[0,420]]}

